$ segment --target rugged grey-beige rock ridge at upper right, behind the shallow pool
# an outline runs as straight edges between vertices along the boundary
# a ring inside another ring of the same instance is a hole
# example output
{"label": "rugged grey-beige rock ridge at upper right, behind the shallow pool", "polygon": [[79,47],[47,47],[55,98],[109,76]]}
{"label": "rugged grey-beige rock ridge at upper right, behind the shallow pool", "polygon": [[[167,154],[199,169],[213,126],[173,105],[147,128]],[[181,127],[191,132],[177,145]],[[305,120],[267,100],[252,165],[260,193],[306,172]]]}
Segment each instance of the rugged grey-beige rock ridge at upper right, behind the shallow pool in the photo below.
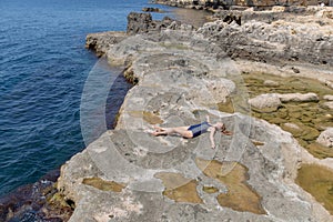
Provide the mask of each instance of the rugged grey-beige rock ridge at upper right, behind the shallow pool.
{"label": "rugged grey-beige rock ridge at upper right, behind the shallow pool", "polygon": [[239,26],[218,20],[205,23],[198,32],[218,42],[234,59],[332,65],[333,39],[329,30],[332,32],[331,26],[311,22],[251,20]]}

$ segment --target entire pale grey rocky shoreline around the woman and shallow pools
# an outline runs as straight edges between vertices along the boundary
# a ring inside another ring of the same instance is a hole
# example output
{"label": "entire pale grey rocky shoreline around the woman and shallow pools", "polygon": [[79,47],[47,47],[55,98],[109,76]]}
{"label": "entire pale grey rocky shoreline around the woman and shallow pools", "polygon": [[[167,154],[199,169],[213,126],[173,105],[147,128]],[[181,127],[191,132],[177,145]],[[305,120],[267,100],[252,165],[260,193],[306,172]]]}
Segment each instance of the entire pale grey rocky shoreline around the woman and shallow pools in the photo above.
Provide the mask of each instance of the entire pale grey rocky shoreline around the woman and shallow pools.
{"label": "entire pale grey rocky shoreline around the woman and shallow pools", "polygon": [[[314,78],[332,88],[331,13],[316,9],[292,20],[289,14],[287,21],[249,19],[240,24],[231,17],[199,29],[131,13],[128,33],[89,34],[87,48],[124,67],[135,85],[124,99],[117,128],[61,168],[58,189],[75,202],[70,221],[333,220],[331,203],[322,205],[325,201],[300,186],[300,170],[314,165],[330,173],[333,157],[314,158],[291,133],[251,118],[253,98],[242,78],[258,71]],[[219,105],[232,95],[234,113],[221,112]],[[279,105],[322,99],[275,95]],[[188,125],[205,115],[234,132],[216,134],[216,150],[205,134],[184,140],[148,133],[152,124]],[[319,137],[327,149],[331,128]],[[332,188],[324,192],[331,195]]]}

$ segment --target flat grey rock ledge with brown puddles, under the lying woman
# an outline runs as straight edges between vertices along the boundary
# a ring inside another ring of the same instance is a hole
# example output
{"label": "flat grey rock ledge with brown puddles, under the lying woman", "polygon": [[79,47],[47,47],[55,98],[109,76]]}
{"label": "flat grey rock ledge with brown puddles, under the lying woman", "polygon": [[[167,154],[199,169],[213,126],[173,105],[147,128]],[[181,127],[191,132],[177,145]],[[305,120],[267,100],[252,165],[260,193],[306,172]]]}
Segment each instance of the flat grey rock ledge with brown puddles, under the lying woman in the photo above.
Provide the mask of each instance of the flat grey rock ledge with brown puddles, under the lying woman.
{"label": "flat grey rock ledge with brown puddles, under the lying woman", "polygon": [[[301,163],[314,159],[279,127],[218,103],[236,84],[236,64],[218,44],[189,29],[127,37],[105,51],[138,82],[107,131],[61,168],[58,189],[75,203],[70,221],[332,221],[295,184]],[[152,137],[152,124],[188,125],[210,115],[232,137],[192,140]]]}

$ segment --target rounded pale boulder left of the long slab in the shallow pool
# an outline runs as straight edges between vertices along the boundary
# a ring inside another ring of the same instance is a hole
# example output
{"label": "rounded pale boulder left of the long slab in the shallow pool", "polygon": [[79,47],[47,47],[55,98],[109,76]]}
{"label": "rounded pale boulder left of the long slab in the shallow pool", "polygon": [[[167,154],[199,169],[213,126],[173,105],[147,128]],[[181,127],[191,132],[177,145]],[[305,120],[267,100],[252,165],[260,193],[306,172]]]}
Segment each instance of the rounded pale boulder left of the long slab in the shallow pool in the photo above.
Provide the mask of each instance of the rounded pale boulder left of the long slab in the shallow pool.
{"label": "rounded pale boulder left of the long slab in the shallow pool", "polygon": [[275,93],[258,95],[250,99],[249,103],[260,112],[273,112],[282,105],[279,95]]}

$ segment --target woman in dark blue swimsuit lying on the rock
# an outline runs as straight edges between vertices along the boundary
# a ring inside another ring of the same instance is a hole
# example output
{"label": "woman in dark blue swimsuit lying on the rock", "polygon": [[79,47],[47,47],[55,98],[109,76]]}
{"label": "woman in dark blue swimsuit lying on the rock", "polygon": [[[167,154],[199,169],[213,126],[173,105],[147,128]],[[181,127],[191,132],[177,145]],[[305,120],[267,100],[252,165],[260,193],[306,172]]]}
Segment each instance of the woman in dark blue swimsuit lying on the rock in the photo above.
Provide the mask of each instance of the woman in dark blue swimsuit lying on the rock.
{"label": "woman in dark blue swimsuit lying on the rock", "polygon": [[191,139],[201,135],[210,131],[210,141],[212,149],[215,149],[214,134],[216,131],[222,132],[223,134],[231,135],[232,132],[226,131],[225,125],[222,122],[216,122],[215,124],[210,123],[210,118],[206,115],[206,121],[200,124],[188,125],[188,127],[176,127],[176,128],[160,128],[154,125],[155,131],[152,132],[153,135],[170,135],[170,134],[180,134],[183,138]]}

